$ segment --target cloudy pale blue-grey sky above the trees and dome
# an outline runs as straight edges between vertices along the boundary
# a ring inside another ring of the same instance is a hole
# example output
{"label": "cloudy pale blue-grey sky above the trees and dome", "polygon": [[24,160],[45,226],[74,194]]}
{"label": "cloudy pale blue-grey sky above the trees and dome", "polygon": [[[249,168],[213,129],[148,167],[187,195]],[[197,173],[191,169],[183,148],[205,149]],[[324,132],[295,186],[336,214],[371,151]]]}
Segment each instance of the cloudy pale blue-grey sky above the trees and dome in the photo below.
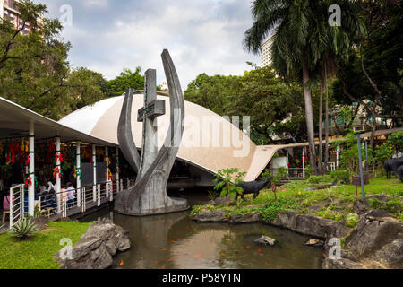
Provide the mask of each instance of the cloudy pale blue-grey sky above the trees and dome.
{"label": "cloudy pale blue-grey sky above the trees and dome", "polygon": [[157,83],[162,83],[164,48],[184,90],[198,74],[244,74],[251,69],[246,61],[261,64],[242,44],[253,23],[250,0],[34,2],[47,5],[47,17],[64,22],[62,37],[73,45],[71,65],[102,73],[107,80],[124,68],[141,66],[142,73],[157,69]]}

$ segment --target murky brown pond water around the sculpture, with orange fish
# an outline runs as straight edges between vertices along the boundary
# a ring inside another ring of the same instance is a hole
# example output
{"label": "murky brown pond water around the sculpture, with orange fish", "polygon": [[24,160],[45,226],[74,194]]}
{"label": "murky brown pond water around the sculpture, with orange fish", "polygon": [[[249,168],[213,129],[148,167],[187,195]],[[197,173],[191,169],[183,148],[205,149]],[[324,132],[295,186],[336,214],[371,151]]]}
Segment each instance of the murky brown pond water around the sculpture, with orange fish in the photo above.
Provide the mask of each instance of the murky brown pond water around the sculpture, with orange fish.
{"label": "murky brown pond water around the sculpture, with orange fish", "polygon": [[[208,196],[200,191],[172,196],[190,204],[203,204]],[[130,217],[109,208],[81,219],[113,221],[129,230],[132,248],[114,258],[113,268],[123,269],[321,269],[322,248],[305,246],[311,238],[270,225],[197,223],[189,212],[150,217]],[[253,243],[270,236],[274,247]]]}

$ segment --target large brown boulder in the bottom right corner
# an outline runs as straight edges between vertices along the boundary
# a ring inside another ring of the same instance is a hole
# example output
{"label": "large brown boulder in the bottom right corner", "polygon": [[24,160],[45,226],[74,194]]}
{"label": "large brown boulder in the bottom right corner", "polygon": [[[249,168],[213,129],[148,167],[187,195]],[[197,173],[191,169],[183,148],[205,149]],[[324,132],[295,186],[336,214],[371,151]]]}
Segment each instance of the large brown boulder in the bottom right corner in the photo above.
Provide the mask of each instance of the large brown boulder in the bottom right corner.
{"label": "large brown boulder in the bottom right corner", "polygon": [[387,268],[403,268],[403,226],[391,217],[367,213],[346,239],[357,260],[378,262]]}

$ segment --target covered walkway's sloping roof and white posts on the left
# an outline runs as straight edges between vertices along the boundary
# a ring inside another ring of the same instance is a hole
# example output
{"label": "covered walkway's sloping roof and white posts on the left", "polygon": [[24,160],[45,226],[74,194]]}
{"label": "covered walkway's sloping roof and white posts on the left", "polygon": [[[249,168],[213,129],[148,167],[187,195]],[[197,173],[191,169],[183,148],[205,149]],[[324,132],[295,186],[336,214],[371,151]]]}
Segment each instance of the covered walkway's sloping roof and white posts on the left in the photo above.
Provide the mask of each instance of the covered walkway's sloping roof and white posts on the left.
{"label": "covered walkway's sloping roof and white posts on the left", "polygon": [[[27,166],[29,169],[30,181],[35,178],[35,141],[55,139],[56,141],[56,194],[61,191],[61,143],[74,143],[76,146],[76,170],[81,170],[81,144],[87,143],[92,145],[92,162],[94,166],[94,185],[97,184],[96,179],[96,147],[105,147],[106,162],[108,164],[108,149],[115,148],[118,152],[116,143],[109,143],[95,136],[81,133],[73,128],[61,125],[56,121],[43,117],[38,113],[25,109],[10,100],[5,100],[0,97],[0,140],[29,138],[29,156]],[[117,154],[117,153],[116,153]],[[117,164],[117,162],[116,162]],[[107,167],[108,169],[108,167]],[[116,172],[117,180],[118,172]],[[81,177],[76,177],[77,189],[81,187]],[[94,193],[96,192],[94,187]],[[34,215],[35,209],[35,184],[30,183],[28,186],[28,210],[30,215]],[[60,201],[60,196],[58,197]],[[81,204],[80,193],[77,194],[78,207]],[[60,213],[61,204],[58,203]]]}

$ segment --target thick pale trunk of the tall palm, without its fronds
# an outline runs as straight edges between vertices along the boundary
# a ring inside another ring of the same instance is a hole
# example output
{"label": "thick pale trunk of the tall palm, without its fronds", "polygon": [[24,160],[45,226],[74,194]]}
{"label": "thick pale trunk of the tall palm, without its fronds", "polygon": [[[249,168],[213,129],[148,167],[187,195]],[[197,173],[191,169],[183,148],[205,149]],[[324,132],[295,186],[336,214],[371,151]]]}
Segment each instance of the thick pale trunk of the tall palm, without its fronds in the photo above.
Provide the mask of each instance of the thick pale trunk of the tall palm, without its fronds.
{"label": "thick pale trunk of the tall palm, without its fronds", "polygon": [[306,130],[308,132],[308,142],[309,142],[309,161],[311,162],[311,167],[313,169],[313,174],[317,174],[316,169],[316,152],[315,152],[315,138],[314,138],[314,128],[313,128],[313,107],[312,107],[312,94],[311,88],[308,87],[307,83],[309,81],[309,70],[306,58],[303,55],[302,60],[303,68],[303,85],[304,85],[304,99],[305,99],[305,117],[306,117]]}

